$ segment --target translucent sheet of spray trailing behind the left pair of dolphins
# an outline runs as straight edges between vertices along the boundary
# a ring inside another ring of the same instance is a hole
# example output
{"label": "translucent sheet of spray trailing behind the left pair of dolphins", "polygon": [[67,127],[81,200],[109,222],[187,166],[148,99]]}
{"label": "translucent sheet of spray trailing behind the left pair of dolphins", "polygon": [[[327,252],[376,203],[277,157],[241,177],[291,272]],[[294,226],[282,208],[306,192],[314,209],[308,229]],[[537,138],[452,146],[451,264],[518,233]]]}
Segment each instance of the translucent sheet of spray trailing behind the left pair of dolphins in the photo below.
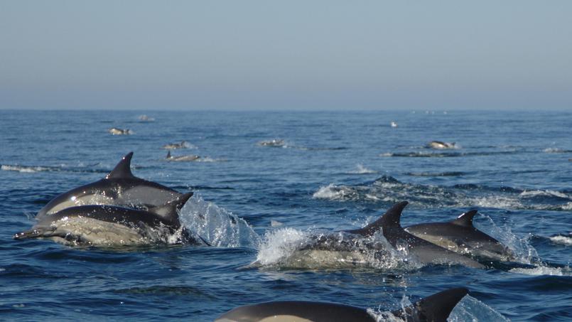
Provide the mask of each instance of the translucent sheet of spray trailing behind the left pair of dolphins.
{"label": "translucent sheet of spray trailing behind the left pair of dolphins", "polygon": [[197,194],[180,210],[180,220],[212,246],[258,248],[260,244],[259,235],[246,221]]}

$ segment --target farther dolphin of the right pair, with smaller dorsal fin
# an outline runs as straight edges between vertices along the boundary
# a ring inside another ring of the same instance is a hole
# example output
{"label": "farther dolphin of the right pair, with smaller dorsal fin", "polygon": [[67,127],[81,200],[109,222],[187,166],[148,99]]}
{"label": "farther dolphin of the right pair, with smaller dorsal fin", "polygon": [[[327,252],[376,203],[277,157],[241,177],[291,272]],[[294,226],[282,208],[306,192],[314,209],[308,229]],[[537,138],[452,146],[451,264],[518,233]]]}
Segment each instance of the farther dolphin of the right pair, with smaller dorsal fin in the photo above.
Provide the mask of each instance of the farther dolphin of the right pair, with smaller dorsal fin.
{"label": "farther dolphin of the right pair, with smaller dorsal fin", "polygon": [[511,249],[473,226],[473,217],[476,213],[477,210],[470,210],[450,222],[412,225],[406,227],[405,230],[422,240],[459,254],[469,254],[502,262],[514,261],[516,256]]}

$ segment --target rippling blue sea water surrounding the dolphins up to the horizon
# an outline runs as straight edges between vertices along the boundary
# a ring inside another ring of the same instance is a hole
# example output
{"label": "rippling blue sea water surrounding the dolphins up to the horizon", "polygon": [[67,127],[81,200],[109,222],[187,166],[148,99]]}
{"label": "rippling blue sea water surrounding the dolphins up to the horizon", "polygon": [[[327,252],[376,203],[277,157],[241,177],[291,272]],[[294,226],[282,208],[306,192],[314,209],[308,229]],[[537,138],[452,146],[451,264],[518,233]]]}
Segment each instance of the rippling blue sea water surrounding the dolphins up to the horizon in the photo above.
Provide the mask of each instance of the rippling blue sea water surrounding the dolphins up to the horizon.
{"label": "rippling blue sea water surrounding the dolphins up to the horizon", "polygon": [[[570,321],[570,129],[571,112],[3,110],[0,319],[212,321],[271,300],[385,311],[465,286],[470,297],[450,321]],[[258,144],[272,139],[284,145]],[[188,149],[172,154],[198,161],[165,160],[161,147],[182,140]],[[432,140],[456,149],[428,149]],[[129,151],[136,176],[195,192],[181,219],[212,247],[12,239],[45,203],[99,180]],[[281,265],[311,232],[362,227],[401,200],[404,225],[479,210],[475,225],[522,267]]]}

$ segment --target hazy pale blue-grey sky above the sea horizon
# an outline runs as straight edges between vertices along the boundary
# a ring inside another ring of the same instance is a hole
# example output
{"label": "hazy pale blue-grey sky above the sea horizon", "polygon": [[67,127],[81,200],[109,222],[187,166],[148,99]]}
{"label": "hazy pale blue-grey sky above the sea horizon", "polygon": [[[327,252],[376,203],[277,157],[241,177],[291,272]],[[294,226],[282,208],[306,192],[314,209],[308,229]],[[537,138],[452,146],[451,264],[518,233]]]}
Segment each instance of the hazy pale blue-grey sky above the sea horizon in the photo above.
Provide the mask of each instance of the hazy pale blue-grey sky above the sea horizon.
{"label": "hazy pale blue-grey sky above the sea horizon", "polygon": [[2,109],[572,109],[572,1],[0,0]]}

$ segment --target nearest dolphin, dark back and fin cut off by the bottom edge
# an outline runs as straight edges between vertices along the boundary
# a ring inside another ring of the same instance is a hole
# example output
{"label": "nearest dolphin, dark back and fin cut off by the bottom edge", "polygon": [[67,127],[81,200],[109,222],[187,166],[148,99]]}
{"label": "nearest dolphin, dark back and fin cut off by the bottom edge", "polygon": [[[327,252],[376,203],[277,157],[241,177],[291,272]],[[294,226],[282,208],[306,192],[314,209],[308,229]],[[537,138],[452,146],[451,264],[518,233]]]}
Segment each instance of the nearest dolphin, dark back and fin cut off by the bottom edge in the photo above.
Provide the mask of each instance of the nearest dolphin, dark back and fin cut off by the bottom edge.
{"label": "nearest dolphin, dark back and fin cut off by the bottom edge", "polygon": [[[403,321],[447,321],[450,312],[458,302],[468,294],[463,287],[447,289],[401,310],[392,311],[395,318]],[[390,316],[387,315],[387,318]],[[311,301],[272,301],[261,304],[239,306],[219,316],[215,322],[374,322],[378,316],[366,309],[345,304],[333,304]],[[393,320],[392,320],[393,321]]]}

